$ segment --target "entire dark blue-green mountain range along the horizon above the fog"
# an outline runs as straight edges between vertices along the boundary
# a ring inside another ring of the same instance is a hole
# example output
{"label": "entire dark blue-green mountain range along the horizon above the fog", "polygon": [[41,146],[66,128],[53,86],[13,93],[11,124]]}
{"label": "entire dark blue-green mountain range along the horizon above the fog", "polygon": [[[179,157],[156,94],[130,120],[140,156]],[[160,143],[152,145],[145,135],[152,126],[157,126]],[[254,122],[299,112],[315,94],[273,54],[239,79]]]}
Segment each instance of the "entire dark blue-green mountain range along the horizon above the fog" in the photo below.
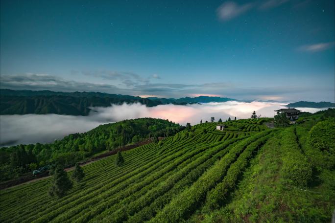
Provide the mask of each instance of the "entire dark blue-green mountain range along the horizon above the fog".
{"label": "entire dark blue-green mountain range along the horizon above the fog", "polygon": [[[147,107],[158,105],[174,104],[187,105],[209,102],[252,102],[252,100],[237,100],[226,97],[183,97],[175,98],[142,98],[132,95],[109,94],[101,92],[62,92],[50,90],[11,90],[0,89],[0,114],[68,114],[68,115],[88,115],[90,107],[109,107],[112,104],[141,103]],[[307,107],[307,108],[329,108],[335,107],[330,102],[296,102],[290,103],[287,107]]]}

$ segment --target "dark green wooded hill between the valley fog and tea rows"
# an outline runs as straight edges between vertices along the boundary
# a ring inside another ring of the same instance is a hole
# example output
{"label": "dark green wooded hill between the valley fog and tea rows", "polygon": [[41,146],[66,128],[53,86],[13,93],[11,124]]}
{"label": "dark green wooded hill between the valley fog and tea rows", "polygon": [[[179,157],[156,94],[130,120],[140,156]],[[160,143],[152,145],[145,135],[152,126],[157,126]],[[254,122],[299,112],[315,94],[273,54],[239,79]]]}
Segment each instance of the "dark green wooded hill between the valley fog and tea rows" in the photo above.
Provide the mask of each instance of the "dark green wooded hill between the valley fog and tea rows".
{"label": "dark green wooded hill between the valley fog and tea rows", "polygon": [[137,143],[154,135],[174,135],[182,128],[168,120],[139,118],[100,125],[87,133],[70,134],[50,144],[0,148],[0,180],[16,178],[48,163],[74,165],[96,153]]}

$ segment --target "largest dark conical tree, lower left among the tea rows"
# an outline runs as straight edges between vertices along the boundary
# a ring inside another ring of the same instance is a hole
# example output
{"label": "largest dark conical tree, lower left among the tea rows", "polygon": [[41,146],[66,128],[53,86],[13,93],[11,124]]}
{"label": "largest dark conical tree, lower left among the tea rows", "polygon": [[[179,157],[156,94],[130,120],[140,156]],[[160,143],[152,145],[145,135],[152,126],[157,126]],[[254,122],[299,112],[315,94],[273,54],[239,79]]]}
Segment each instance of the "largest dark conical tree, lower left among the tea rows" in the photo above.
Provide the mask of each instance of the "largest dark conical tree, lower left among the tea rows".
{"label": "largest dark conical tree, lower left among the tea rows", "polygon": [[72,182],[68,178],[68,175],[63,170],[63,167],[58,165],[53,173],[52,185],[49,189],[49,195],[58,198],[66,195],[67,191],[72,188]]}

